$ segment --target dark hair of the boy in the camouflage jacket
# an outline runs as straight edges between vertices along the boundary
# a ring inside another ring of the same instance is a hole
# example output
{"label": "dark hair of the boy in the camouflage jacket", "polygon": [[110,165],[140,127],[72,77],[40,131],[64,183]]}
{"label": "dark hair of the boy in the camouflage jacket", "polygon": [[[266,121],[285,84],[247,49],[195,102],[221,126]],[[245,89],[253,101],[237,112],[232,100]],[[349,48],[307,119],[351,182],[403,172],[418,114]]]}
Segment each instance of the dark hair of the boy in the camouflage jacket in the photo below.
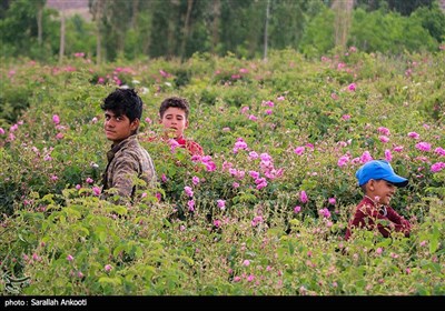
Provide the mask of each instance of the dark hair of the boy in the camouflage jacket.
{"label": "dark hair of the boy in the camouflage jacket", "polygon": [[135,89],[119,89],[117,88],[105,100],[100,108],[111,110],[119,116],[127,116],[130,122],[142,117],[142,100],[135,91]]}

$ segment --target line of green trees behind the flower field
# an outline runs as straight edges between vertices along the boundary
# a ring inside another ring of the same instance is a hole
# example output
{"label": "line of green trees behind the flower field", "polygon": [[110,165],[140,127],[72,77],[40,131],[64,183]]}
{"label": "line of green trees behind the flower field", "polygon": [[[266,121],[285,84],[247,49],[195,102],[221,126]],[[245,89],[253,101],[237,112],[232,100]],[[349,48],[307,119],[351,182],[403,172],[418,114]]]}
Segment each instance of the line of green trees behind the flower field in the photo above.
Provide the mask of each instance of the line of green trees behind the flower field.
{"label": "line of green trees behind the flower field", "polygon": [[319,57],[434,51],[445,39],[438,0],[89,0],[92,19],[46,0],[0,2],[3,57],[63,60],[190,58],[196,52],[267,58],[270,49]]}

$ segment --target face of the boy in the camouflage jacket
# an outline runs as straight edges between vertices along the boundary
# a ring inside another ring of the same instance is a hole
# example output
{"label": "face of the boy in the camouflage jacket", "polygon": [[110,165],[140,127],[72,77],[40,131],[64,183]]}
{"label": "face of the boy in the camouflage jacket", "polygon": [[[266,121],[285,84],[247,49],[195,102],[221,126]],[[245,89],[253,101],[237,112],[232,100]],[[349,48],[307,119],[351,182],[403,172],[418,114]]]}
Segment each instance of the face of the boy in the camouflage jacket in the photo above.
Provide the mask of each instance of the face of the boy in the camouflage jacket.
{"label": "face of the boy in the camouflage jacket", "polygon": [[136,131],[139,126],[139,119],[130,122],[127,116],[117,117],[111,110],[105,111],[103,129],[108,140],[113,144],[121,142]]}

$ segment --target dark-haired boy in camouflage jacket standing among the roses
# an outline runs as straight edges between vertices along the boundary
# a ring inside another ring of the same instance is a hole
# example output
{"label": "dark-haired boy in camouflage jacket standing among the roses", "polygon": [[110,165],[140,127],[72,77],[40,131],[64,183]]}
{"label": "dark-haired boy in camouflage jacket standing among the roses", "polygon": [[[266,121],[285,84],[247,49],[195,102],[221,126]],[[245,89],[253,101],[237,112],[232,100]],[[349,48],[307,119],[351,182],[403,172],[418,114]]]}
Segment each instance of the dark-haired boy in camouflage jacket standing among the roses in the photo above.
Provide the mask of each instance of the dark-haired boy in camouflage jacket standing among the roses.
{"label": "dark-haired boy in camouflage jacket standing among the roses", "polygon": [[118,194],[117,203],[129,202],[140,187],[138,179],[145,182],[147,189],[154,188],[157,181],[151,157],[137,139],[142,100],[134,89],[116,89],[100,108],[105,111],[105,134],[112,142],[107,152],[101,198]]}

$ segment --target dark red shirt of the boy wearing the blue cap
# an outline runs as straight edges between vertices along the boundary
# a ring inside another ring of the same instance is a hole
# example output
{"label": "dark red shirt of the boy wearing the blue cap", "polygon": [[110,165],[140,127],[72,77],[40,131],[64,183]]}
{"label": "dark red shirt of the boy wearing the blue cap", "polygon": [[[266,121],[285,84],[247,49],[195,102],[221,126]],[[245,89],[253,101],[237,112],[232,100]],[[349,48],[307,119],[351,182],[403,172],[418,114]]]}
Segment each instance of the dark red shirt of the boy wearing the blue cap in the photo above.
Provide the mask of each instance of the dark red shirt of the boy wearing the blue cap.
{"label": "dark red shirt of the boy wearing the blue cap", "polygon": [[[384,224],[382,222],[389,222]],[[377,204],[368,197],[356,207],[354,218],[349,221],[346,230],[345,240],[348,240],[354,228],[366,228],[374,230],[377,223],[377,229],[383,237],[389,237],[390,232],[404,232],[405,237],[409,237],[411,223],[394,209],[389,207],[378,208]]]}

